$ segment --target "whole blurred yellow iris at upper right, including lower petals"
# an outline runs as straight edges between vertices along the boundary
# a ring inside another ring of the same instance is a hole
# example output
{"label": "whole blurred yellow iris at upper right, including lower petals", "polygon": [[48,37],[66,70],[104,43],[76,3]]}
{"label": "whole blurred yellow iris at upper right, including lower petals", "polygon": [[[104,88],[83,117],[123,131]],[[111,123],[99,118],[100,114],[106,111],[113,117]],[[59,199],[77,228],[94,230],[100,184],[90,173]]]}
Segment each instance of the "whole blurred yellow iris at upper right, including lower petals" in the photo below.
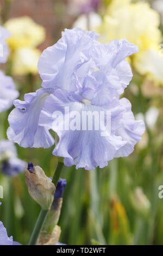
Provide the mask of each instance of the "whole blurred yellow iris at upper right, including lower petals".
{"label": "whole blurred yellow iris at upper right, including lower petals", "polygon": [[96,31],[101,34],[99,40],[102,42],[126,38],[139,46],[140,51],[131,57],[134,68],[156,84],[163,84],[159,25],[159,14],[148,3],[112,0],[102,25]]}

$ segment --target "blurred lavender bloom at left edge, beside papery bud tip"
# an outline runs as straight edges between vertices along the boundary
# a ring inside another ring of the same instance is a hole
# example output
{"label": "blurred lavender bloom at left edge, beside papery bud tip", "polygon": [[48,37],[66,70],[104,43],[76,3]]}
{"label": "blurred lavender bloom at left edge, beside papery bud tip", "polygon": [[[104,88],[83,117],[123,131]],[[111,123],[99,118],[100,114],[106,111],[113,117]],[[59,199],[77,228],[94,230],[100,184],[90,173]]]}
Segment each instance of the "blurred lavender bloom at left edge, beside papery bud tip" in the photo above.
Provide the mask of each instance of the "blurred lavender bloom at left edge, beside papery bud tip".
{"label": "blurred lavender bloom at left edge, beside papery bud tip", "polygon": [[23,172],[27,163],[17,158],[14,143],[8,140],[0,141],[0,169],[8,176],[16,176]]}

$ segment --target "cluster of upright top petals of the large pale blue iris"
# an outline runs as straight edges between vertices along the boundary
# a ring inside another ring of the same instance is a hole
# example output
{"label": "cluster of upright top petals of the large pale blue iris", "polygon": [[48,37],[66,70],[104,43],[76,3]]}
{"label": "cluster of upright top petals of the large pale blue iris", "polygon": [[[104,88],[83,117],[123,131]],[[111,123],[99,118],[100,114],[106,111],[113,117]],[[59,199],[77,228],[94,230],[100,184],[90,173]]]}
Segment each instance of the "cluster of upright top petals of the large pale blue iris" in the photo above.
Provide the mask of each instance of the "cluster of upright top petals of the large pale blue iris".
{"label": "cluster of upright top petals of the large pale blue iris", "polygon": [[80,87],[79,80],[101,71],[108,87],[121,94],[132,77],[124,59],[139,49],[126,39],[101,44],[97,38],[95,32],[65,29],[57,44],[43,51],[39,59],[42,86],[76,90]]}

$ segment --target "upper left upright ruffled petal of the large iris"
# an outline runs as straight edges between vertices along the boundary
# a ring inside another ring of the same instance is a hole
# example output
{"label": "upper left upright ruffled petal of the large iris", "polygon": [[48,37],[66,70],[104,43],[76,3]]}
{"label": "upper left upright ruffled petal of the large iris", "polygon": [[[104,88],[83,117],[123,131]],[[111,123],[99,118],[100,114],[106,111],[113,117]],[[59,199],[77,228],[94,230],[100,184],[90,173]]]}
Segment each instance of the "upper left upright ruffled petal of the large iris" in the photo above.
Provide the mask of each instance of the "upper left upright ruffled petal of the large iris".
{"label": "upper left upright ruffled petal of the large iris", "polygon": [[42,86],[70,89],[74,71],[90,60],[87,56],[97,36],[79,28],[65,29],[57,44],[44,50],[39,59]]}

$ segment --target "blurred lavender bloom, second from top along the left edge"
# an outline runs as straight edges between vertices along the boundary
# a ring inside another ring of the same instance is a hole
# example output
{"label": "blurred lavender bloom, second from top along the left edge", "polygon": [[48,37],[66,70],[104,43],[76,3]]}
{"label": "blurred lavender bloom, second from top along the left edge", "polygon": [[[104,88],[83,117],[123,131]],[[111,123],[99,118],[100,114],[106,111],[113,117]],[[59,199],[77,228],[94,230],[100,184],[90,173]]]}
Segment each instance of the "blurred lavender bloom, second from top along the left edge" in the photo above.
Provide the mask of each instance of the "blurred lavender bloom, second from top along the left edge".
{"label": "blurred lavender bloom, second from top along the left edge", "polygon": [[12,78],[0,70],[0,112],[9,109],[18,95]]}

